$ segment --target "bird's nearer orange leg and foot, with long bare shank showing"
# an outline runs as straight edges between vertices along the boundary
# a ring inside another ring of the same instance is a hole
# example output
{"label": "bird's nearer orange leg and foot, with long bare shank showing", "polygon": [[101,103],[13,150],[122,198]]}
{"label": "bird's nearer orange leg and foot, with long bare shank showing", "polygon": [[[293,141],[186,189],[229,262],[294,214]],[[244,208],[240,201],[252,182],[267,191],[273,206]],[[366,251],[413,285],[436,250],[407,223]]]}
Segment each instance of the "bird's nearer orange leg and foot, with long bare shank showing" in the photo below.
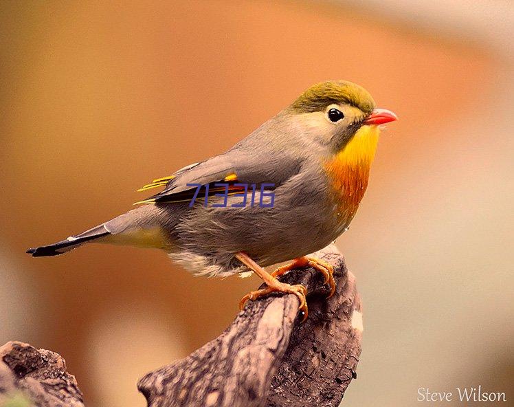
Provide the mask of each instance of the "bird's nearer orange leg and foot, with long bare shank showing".
{"label": "bird's nearer orange leg and foot, with long bare shank showing", "polygon": [[303,285],[291,285],[281,283],[276,279],[276,277],[271,276],[271,274],[269,274],[266,270],[260,267],[260,265],[253,261],[244,252],[236,253],[236,259],[238,259],[238,261],[241,261],[241,263],[247,266],[250,270],[254,271],[255,274],[262,278],[262,281],[264,281],[267,285],[266,288],[249,292],[249,294],[246,294],[243,298],[241,298],[241,302],[239,303],[239,309],[243,309],[245,307],[247,300],[256,300],[262,296],[265,296],[273,292],[283,292],[287,294],[295,294],[295,296],[298,297],[298,300],[300,300],[300,307],[298,309],[299,311],[302,311],[304,314],[304,318],[302,321],[307,319],[307,316],[309,315],[309,311],[307,309],[307,300],[305,298],[307,290]]}

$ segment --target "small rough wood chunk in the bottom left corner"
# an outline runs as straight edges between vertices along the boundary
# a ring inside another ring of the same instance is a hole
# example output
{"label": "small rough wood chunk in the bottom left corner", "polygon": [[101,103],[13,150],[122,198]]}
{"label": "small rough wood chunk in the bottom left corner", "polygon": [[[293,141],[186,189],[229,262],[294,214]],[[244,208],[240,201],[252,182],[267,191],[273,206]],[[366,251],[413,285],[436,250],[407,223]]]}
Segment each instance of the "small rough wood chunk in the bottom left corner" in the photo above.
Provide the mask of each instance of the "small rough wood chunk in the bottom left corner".
{"label": "small rough wood chunk in the bottom left corner", "polygon": [[65,360],[23,342],[0,347],[0,406],[84,407]]}

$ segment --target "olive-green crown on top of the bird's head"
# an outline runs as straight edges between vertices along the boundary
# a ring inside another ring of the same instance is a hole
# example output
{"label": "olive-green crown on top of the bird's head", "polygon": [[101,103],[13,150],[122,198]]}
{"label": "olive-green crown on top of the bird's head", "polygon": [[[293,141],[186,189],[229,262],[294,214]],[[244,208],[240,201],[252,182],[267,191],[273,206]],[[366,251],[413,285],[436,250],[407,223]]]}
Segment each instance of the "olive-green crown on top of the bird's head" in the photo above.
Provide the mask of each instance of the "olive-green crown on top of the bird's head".
{"label": "olive-green crown on top of the bird's head", "polygon": [[333,103],[347,103],[364,113],[371,113],[376,107],[375,100],[364,87],[346,80],[328,80],[304,91],[291,104],[291,109],[298,113],[309,113],[324,110]]}

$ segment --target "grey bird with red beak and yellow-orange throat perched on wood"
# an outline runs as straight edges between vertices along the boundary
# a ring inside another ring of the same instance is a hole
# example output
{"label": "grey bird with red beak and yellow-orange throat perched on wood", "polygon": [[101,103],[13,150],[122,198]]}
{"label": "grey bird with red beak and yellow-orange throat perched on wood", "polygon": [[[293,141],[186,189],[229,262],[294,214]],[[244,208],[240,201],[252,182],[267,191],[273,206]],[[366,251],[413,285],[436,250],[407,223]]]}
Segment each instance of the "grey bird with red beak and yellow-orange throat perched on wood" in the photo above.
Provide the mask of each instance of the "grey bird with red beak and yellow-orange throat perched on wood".
{"label": "grey bird with red beak and yellow-orange throat perched on wood", "polygon": [[[306,318],[306,289],[276,277],[310,265],[333,294],[331,265],[306,254],[347,230],[368,186],[379,124],[393,120],[362,87],[319,83],[225,153],[141,188],[164,190],[137,208],[27,253],[54,256],[91,242],[159,248],[199,275],[256,272],[267,288],[241,307],[286,292],[298,296]],[[262,268],[291,259],[271,274]]]}

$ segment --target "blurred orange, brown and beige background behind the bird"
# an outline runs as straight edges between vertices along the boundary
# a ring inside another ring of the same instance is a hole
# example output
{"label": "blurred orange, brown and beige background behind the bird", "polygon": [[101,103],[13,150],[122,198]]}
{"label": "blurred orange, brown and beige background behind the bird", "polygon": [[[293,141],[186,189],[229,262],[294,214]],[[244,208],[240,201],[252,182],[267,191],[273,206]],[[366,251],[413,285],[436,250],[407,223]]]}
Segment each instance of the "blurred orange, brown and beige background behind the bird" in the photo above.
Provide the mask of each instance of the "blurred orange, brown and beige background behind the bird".
{"label": "blurred orange, brown and beige background behind the bird", "polygon": [[156,250],[25,249],[124,212],[342,78],[401,119],[337,241],[365,327],[343,405],[478,384],[514,405],[511,1],[0,8],[0,344],[61,353],[88,406],[144,406],[137,379],[219,335],[258,279],[194,278]]}

